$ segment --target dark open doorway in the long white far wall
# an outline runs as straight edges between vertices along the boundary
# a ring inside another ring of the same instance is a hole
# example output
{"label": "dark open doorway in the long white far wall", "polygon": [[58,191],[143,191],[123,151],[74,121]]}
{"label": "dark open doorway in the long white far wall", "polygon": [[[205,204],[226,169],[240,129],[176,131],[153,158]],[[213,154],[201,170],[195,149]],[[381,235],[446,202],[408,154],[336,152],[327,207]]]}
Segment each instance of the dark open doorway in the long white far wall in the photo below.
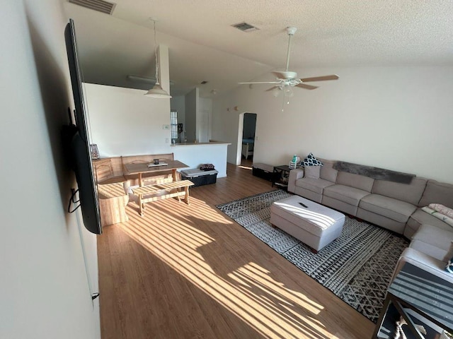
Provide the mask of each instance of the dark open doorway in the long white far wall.
{"label": "dark open doorway in the long white far wall", "polygon": [[243,113],[239,119],[239,136],[241,145],[239,147],[240,164],[251,167],[253,164],[253,153],[255,149],[256,113]]}

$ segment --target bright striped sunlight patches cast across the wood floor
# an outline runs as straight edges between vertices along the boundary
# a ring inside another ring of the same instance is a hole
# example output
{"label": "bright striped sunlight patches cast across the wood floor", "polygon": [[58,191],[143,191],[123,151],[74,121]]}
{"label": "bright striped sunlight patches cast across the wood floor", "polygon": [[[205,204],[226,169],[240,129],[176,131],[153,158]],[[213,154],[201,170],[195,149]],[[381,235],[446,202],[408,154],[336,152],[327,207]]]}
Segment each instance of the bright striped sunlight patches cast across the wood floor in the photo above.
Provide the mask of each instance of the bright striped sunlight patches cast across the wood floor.
{"label": "bright striped sunlight patches cast across the wood floor", "polygon": [[[180,210],[176,211],[172,203],[160,204],[160,213],[152,213],[157,206],[147,206],[143,218],[132,213],[130,221],[118,224],[118,227],[260,335],[266,338],[335,338],[316,320],[323,306],[274,280],[258,263],[242,261],[241,266],[224,274],[213,270],[198,249],[215,244],[216,227],[225,227],[232,222],[212,210],[208,216],[207,208],[212,207],[203,201],[191,198],[190,206],[181,204]],[[189,214],[194,210],[197,211],[195,217]],[[200,222],[207,225],[205,229],[214,230],[212,234],[202,232]],[[216,255],[214,247],[211,253]],[[222,264],[222,258],[216,260]]]}

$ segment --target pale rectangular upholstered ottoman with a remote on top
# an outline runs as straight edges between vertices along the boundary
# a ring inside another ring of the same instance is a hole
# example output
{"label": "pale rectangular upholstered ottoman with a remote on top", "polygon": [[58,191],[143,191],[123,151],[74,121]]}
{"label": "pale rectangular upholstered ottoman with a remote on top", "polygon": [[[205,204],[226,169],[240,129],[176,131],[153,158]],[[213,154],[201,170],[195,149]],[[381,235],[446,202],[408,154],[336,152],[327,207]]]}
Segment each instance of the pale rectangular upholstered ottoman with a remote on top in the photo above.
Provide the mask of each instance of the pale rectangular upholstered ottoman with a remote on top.
{"label": "pale rectangular upholstered ottoman with a remote on top", "polygon": [[345,215],[302,196],[290,196],[270,206],[270,223],[318,253],[340,237]]}

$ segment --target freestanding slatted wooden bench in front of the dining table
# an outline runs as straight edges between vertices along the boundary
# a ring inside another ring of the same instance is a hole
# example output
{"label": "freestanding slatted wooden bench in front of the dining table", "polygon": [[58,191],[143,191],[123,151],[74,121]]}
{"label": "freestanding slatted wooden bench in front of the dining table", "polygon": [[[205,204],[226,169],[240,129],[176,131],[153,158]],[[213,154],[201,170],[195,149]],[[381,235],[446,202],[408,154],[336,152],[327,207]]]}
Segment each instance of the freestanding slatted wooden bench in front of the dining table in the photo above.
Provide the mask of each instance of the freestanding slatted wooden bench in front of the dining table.
{"label": "freestanding slatted wooden bench in front of the dining table", "polygon": [[[140,215],[143,215],[144,203],[151,201],[173,197],[178,197],[178,201],[180,201],[180,196],[184,196],[185,203],[189,204],[190,186],[193,186],[193,182],[190,180],[173,182],[173,178],[157,179],[154,184],[132,189],[132,193],[139,196]],[[184,189],[184,191],[180,191],[180,189]]]}

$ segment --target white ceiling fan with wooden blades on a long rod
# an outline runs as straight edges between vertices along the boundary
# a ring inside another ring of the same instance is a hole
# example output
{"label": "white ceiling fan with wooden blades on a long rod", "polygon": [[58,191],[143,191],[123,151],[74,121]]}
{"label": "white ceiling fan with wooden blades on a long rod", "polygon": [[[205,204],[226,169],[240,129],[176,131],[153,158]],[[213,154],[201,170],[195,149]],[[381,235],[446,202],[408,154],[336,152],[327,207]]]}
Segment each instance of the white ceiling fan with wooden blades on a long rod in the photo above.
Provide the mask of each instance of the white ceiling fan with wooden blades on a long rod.
{"label": "white ceiling fan with wooden blades on a long rod", "polygon": [[285,71],[280,71],[280,72],[272,72],[277,79],[275,81],[255,81],[255,82],[250,82],[250,83],[239,83],[239,85],[243,84],[260,84],[260,83],[270,83],[273,84],[274,86],[272,88],[269,88],[268,91],[273,91],[274,95],[277,96],[280,94],[280,90],[285,93],[285,96],[292,96],[292,87],[299,87],[299,88],[305,88],[306,90],[314,90],[315,88],[318,88],[318,86],[314,85],[309,85],[307,83],[311,81],[326,81],[326,80],[337,80],[338,76],[336,74],[332,74],[330,76],[315,76],[311,78],[297,78],[297,73],[288,71],[289,67],[289,52],[291,50],[291,37],[294,35],[296,32],[297,28],[295,27],[287,27],[286,31],[288,34],[288,51],[287,51],[287,57],[286,57],[286,69]]}

